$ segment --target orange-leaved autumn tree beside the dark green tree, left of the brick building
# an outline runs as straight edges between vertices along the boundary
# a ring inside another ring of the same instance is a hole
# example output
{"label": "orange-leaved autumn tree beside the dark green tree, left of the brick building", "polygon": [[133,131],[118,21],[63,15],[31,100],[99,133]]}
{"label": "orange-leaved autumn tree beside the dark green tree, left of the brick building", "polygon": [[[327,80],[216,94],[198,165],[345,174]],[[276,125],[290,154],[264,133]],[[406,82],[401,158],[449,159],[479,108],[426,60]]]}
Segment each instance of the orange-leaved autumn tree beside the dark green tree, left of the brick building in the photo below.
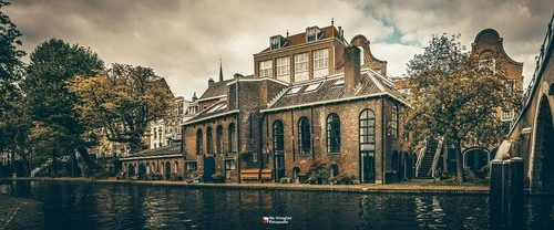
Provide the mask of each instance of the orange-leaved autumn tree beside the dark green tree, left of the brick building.
{"label": "orange-leaved autumn tree beside the dark green tree, left of the brick building", "polygon": [[94,77],[75,76],[69,88],[80,103],[80,122],[92,133],[102,130],[111,142],[129,143],[131,151],[143,149],[148,124],[165,118],[173,95],[163,77],[148,67],[113,64]]}

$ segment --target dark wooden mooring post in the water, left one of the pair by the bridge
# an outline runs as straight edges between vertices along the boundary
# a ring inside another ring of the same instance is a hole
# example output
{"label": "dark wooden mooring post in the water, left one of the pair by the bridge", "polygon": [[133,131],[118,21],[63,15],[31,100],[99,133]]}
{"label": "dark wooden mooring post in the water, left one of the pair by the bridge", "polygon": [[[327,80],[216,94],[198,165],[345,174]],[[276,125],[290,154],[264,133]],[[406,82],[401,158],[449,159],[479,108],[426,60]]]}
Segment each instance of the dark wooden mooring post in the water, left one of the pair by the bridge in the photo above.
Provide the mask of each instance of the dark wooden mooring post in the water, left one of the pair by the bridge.
{"label": "dark wooden mooring post in the water, left one of the pair by the bridge", "polygon": [[489,229],[502,229],[502,160],[492,160],[489,184]]}

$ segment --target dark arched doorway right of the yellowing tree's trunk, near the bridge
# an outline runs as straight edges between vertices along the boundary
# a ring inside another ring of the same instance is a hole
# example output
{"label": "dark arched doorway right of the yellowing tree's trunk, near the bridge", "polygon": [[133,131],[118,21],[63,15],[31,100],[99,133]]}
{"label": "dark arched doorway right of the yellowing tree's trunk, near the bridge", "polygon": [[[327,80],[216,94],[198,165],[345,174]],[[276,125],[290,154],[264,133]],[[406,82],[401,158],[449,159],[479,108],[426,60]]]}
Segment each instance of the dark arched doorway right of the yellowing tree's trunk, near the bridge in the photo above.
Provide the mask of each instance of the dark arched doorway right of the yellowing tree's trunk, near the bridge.
{"label": "dark arched doorway right of the yellowing tree's trunk, near the bridge", "polygon": [[490,159],[490,151],[483,147],[472,147],[463,151],[463,167],[470,168],[479,178],[486,176]]}

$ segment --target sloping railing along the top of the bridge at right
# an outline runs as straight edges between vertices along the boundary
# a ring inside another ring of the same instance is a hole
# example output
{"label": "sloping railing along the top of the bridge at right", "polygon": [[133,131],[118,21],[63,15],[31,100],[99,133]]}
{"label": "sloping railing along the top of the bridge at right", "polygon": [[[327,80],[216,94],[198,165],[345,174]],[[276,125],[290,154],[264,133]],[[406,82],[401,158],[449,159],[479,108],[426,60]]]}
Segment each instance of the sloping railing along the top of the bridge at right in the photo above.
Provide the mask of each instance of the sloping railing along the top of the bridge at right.
{"label": "sloping railing along the top of the bridge at right", "polygon": [[524,111],[524,108],[531,103],[532,100],[532,94],[534,88],[536,87],[536,84],[541,82],[541,70],[543,69],[544,59],[545,59],[545,51],[548,51],[552,43],[554,43],[554,13],[552,14],[551,22],[548,23],[548,28],[546,29],[546,35],[544,36],[543,44],[541,45],[541,50],[537,56],[535,56],[536,60],[536,66],[535,66],[535,72],[533,73],[533,77],[531,79],[531,82],[529,83],[525,93],[523,93],[523,105],[522,109],[513,116],[512,123],[510,125],[510,130],[513,129],[515,124],[517,124],[517,121],[520,119],[521,113]]}

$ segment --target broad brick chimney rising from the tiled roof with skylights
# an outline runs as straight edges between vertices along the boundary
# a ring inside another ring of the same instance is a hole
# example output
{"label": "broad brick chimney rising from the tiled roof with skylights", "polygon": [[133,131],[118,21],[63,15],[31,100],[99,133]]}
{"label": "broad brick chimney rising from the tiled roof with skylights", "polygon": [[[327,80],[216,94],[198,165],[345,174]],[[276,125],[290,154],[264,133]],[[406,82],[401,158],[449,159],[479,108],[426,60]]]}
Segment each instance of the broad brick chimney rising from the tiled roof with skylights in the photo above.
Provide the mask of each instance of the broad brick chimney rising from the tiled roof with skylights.
{"label": "broad brick chimney rising from the tiled roof with skylights", "polygon": [[360,50],[350,45],[345,48],[345,93],[351,96],[360,83]]}

